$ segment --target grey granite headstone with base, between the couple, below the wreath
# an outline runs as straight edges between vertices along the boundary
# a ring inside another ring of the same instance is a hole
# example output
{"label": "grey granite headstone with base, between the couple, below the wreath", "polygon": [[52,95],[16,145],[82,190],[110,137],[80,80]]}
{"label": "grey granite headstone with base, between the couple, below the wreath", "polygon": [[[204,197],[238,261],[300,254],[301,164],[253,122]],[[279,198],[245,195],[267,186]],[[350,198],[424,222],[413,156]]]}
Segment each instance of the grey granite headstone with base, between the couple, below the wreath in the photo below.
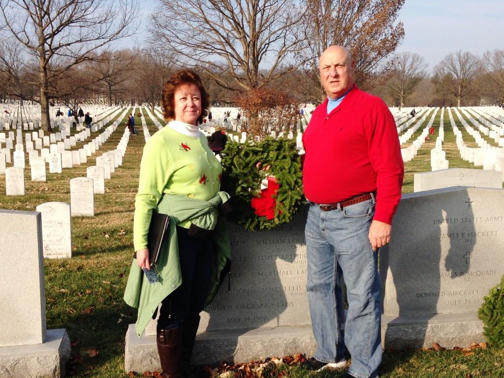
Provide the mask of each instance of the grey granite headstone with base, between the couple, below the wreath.
{"label": "grey granite headstone with base, between the couple, below the wreath", "polygon": [[[250,232],[229,224],[230,281],[225,279],[201,314],[193,364],[314,353],[306,298],[306,212],[303,207],[292,222],[273,230]],[[130,325],[126,371],[159,369],[155,333],[155,321],[141,339]]]}

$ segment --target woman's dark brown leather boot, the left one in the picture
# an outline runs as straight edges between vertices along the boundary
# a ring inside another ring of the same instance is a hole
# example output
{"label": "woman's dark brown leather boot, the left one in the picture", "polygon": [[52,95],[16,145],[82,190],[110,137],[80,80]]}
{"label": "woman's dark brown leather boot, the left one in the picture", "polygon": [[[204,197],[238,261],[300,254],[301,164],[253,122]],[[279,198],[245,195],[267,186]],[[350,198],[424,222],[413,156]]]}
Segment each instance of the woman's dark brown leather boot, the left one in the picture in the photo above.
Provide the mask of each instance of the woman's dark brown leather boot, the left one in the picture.
{"label": "woman's dark brown leather boot, the left one in the picture", "polygon": [[183,327],[159,330],[156,337],[163,378],[183,378],[181,363]]}

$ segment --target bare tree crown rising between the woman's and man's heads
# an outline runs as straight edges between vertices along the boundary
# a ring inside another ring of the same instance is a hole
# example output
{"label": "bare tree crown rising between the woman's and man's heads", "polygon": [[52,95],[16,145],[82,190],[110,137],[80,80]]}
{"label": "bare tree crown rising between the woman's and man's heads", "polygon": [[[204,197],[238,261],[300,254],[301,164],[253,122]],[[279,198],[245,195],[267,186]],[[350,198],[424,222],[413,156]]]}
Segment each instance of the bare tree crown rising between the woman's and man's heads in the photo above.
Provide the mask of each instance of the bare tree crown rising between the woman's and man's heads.
{"label": "bare tree crown rising between the woman's and man's heads", "polygon": [[[304,39],[294,0],[161,0],[149,27],[159,50],[199,66],[220,86],[248,91],[293,71]],[[264,69],[264,74],[261,70]],[[232,77],[233,82],[223,80]]]}

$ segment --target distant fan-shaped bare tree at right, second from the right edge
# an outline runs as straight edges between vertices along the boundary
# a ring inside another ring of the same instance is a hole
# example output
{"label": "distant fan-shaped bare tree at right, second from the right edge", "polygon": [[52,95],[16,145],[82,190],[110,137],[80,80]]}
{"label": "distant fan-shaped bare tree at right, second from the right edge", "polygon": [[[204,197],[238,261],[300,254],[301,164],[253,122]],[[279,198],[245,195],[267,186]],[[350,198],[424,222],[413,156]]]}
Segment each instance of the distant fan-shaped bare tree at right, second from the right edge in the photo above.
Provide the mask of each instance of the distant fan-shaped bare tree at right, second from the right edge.
{"label": "distant fan-shaped bare tree at right, second from the right edge", "polygon": [[471,83],[480,69],[480,60],[469,51],[446,55],[434,68],[435,77],[457,99],[457,107],[463,98],[468,96]]}

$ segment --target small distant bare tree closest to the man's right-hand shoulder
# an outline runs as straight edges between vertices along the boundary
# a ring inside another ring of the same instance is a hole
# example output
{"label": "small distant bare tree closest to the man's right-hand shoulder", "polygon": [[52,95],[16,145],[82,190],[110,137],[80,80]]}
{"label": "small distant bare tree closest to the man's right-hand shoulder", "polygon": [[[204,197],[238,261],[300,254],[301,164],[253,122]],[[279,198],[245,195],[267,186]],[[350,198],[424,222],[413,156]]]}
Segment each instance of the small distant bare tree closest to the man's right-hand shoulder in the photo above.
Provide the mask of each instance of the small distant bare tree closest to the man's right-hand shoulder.
{"label": "small distant bare tree closest to the man's right-hand shoulder", "polygon": [[389,92],[397,100],[399,108],[415,86],[425,77],[427,64],[422,56],[414,52],[396,54],[392,74],[388,83]]}

